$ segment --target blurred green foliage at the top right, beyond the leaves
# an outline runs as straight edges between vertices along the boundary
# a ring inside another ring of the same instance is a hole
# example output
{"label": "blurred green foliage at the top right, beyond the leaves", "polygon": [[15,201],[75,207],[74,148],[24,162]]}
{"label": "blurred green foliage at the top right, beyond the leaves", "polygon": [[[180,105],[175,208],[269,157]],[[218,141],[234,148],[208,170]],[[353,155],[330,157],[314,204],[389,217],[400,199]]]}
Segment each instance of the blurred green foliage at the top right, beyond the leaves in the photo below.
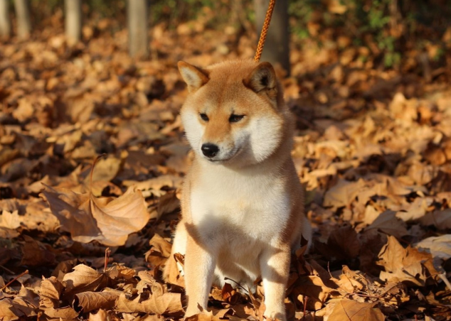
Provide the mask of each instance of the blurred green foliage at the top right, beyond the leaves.
{"label": "blurred green foliage at the top right, beyond the leaves", "polygon": [[[327,4],[343,6],[338,12]],[[292,33],[298,38],[314,38],[307,28],[308,23],[317,23],[321,31],[334,28],[337,35],[346,35],[355,45],[371,43],[381,50],[381,60],[386,67],[400,64],[406,45],[423,50],[440,36],[433,38],[428,34],[442,34],[451,25],[451,1],[443,0],[292,0],[290,1]],[[317,41],[320,42],[320,37]],[[439,60],[442,51],[437,51]]]}

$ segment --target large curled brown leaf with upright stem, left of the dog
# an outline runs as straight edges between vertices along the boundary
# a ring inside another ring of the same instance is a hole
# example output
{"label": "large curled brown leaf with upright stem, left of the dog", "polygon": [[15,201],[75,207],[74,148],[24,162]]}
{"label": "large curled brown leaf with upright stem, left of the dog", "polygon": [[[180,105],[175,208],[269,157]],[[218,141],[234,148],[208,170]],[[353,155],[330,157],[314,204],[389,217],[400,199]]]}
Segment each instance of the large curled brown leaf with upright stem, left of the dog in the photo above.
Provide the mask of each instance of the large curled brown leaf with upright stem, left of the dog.
{"label": "large curled brown leaf with upright stem, left of the dog", "polygon": [[83,243],[97,240],[107,246],[124,245],[128,235],[142,229],[149,219],[141,192],[132,187],[117,198],[95,198],[46,185],[43,195],[61,229]]}

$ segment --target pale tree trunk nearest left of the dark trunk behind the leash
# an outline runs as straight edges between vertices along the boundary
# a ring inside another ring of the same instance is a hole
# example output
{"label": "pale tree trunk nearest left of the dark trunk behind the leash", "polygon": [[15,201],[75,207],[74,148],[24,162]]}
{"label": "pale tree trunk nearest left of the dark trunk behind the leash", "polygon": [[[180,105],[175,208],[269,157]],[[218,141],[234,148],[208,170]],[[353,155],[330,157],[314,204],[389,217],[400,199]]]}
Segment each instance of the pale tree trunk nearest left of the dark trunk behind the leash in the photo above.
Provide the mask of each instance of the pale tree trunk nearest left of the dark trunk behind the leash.
{"label": "pale tree trunk nearest left of the dark trunk behind the leash", "polygon": [[128,0],[127,4],[129,55],[134,58],[149,58],[149,6],[147,0]]}

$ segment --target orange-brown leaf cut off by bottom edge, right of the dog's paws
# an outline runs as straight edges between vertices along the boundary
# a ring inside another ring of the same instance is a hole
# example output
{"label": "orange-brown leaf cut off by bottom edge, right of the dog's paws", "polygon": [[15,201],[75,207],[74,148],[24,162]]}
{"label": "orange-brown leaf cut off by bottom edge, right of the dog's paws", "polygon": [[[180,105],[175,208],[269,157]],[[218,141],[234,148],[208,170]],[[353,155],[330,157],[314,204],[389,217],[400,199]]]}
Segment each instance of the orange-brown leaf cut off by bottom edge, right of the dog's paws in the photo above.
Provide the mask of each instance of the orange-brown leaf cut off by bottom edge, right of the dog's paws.
{"label": "orange-brown leaf cut off by bottom edge, right of the dog's paws", "polygon": [[377,303],[359,303],[343,299],[336,303],[328,321],[384,321],[386,318]]}

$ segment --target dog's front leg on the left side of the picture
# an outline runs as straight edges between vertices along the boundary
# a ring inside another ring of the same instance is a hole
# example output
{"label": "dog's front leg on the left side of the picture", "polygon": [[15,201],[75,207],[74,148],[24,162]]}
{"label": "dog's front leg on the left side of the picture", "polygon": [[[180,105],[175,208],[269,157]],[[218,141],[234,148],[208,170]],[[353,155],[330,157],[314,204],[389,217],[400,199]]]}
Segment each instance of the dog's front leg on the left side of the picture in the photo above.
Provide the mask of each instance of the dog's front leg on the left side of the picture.
{"label": "dog's front leg on the left side of the picture", "polygon": [[[216,257],[200,240],[188,236],[185,254],[185,288],[188,307],[185,317],[191,317],[206,310],[210,293]],[[199,308],[200,307],[200,308]]]}

